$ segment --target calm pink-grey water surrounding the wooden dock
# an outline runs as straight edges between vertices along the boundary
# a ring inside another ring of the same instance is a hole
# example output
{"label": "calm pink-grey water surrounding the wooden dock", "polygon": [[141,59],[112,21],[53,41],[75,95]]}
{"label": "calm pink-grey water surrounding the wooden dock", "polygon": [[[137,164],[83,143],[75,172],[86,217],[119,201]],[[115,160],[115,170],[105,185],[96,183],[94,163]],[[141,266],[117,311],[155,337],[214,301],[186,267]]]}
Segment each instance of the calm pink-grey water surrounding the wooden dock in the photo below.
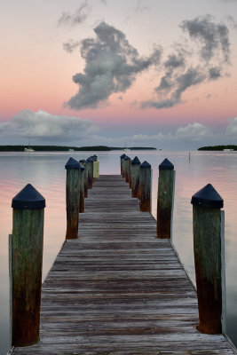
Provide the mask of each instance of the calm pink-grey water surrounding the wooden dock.
{"label": "calm pink-grey water surrounding the wooden dock", "polygon": [[[66,209],[64,165],[70,156],[87,158],[92,152],[4,153],[0,154],[0,353],[9,348],[8,234],[12,233],[12,197],[28,183],[46,199],[43,278],[65,239]],[[100,174],[119,174],[120,155],[97,153]],[[156,212],[158,166],[164,158],[175,165],[176,193],[173,241],[181,261],[194,280],[191,197],[208,183],[214,185],[225,204],[225,270],[227,292],[227,334],[237,345],[237,154],[192,152],[130,152],[153,167],[153,214]]]}

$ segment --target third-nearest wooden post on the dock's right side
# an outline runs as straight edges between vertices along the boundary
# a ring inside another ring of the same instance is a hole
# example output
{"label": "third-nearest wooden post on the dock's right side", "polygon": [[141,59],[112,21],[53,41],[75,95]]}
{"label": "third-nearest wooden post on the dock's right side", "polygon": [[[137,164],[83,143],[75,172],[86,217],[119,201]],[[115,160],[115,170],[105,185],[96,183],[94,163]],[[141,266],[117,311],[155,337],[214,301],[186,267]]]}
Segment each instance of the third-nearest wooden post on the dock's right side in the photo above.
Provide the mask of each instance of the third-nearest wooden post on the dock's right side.
{"label": "third-nearest wooden post on the dock's right side", "polygon": [[139,167],[140,211],[151,212],[151,165],[143,162]]}

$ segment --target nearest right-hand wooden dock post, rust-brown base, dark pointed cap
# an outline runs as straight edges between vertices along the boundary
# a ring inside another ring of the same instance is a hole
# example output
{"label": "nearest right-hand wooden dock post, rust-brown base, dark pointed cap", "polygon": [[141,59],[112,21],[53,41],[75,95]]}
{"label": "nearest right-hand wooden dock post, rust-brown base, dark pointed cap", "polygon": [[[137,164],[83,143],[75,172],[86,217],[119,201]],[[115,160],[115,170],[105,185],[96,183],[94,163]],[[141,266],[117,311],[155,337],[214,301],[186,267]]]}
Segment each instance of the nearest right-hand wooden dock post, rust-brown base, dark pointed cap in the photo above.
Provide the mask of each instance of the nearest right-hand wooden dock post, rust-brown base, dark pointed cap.
{"label": "nearest right-hand wooden dock post, rust-brown base, dark pointed cap", "polygon": [[194,262],[198,296],[198,330],[225,332],[225,241],[223,199],[210,184],[194,194]]}

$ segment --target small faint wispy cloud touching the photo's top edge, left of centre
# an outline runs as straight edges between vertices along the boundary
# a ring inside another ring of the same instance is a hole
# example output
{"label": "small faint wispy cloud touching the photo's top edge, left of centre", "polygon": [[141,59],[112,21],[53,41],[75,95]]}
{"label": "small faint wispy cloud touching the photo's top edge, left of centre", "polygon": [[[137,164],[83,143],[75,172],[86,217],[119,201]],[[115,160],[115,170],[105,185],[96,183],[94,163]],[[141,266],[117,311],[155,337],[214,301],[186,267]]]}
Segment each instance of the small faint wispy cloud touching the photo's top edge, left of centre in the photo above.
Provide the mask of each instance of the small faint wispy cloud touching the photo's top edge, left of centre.
{"label": "small faint wispy cloud touching the photo's top edge, left of centre", "polygon": [[75,26],[81,24],[87,19],[89,12],[90,7],[88,2],[85,0],[75,11],[75,13],[71,14],[70,12],[63,12],[59,18],[58,24],[59,26]]}

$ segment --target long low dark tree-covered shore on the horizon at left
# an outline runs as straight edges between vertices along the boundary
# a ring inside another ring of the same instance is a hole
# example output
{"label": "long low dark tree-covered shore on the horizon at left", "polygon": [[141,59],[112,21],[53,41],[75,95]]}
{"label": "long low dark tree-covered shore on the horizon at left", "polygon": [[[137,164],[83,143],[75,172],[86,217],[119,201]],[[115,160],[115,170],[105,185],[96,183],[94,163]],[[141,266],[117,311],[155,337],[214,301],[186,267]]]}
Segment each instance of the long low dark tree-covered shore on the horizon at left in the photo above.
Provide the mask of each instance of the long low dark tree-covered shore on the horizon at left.
{"label": "long low dark tree-covered shore on the horizon at left", "polygon": [[[25,152],[28,146],[0,146],[0,152]],[[110,152],[112,150],[123,150],[125,147],[117,146],[29,146],[35,152],[78,152],[78,151],[93,151],[93,152]],[[130,150],[156,150],[154,147],[147,146],[130,146],[126,147]]]}

